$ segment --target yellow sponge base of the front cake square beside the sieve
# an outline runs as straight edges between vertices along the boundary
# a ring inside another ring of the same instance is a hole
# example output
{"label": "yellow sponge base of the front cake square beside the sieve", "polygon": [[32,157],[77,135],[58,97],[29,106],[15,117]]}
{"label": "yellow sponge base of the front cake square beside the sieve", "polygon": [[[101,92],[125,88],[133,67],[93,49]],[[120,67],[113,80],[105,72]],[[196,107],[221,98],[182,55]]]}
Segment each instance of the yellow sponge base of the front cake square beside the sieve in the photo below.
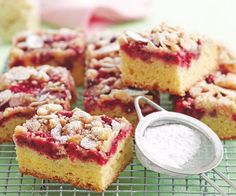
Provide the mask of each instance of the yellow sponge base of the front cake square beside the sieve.
{"label": "yellow sponge base of the front cake square beside the sieve", "polygon": [[102,192],[130,163],[132,143],[131,135],[120,141],[116,153],[105,165],[79,159],[51,159],[27,146],[16,145],[16,154],[20,171],[24,174]]}

